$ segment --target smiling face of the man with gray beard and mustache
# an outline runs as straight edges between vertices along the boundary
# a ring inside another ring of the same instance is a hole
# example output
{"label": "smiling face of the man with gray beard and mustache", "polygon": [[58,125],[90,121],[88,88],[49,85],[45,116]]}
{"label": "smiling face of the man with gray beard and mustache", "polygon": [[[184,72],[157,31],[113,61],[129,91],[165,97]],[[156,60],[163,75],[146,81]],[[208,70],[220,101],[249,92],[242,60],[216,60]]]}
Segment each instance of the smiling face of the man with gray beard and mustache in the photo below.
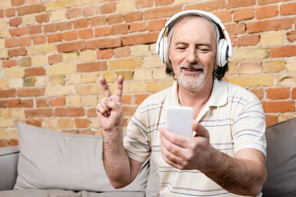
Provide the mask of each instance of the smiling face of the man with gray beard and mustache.
{"label": "smiling face of the man with gray beard and mustache", "polygon": [[179,23],[172,35],[170,60],[178,84],[189,91],[212,83],[216,55],[216,34],[203,18]]}

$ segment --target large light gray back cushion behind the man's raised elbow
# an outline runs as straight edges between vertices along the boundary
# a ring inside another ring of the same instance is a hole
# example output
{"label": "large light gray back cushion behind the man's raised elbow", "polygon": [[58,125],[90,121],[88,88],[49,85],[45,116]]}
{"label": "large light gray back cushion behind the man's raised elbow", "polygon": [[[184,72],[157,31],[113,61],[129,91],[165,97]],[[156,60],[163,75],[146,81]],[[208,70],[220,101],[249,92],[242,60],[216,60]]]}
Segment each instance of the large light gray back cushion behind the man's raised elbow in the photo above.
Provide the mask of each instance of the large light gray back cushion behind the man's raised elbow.
{"label": "large light gray back cushion behind the man's raised elbow", "polygon": [[14,189],[145,192],[147,164],[129,186],[112,188],[102,161],[102,136],[50,131],[24,123],[18,123],[18,131],[20,155]]}

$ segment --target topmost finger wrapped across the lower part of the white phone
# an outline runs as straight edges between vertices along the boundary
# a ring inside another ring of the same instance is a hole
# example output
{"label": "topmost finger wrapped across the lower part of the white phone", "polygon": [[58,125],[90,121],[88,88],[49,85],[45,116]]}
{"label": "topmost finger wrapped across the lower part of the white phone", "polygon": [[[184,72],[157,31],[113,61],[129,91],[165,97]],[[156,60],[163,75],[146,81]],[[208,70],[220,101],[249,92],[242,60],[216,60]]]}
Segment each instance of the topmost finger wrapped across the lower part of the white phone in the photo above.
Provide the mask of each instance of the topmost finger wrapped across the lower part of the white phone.
{"label": "topmost finger wrapped across the lower part of the white phone", "polygon": [[188,148],[188,140],[190,139],[189,137],[178,135],[172,131],[169,131],[167,128],[161,128],[160,133],[173,144],[183,148]]}

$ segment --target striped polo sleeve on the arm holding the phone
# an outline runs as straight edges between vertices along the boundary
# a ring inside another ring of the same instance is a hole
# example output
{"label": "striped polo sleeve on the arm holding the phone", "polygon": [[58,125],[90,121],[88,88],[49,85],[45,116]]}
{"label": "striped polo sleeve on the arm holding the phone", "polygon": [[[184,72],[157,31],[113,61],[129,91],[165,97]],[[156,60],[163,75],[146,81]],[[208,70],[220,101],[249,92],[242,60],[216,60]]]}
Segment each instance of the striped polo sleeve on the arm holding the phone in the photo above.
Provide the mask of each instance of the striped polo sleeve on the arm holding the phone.
{"label": "striped polo sleeve on the arm holding the phone", "polygon": [[234,154],[242,149],[253,148],[261,151],[266,161],[265,115],[259,100],[245,104],[236,113],[232,126]]}

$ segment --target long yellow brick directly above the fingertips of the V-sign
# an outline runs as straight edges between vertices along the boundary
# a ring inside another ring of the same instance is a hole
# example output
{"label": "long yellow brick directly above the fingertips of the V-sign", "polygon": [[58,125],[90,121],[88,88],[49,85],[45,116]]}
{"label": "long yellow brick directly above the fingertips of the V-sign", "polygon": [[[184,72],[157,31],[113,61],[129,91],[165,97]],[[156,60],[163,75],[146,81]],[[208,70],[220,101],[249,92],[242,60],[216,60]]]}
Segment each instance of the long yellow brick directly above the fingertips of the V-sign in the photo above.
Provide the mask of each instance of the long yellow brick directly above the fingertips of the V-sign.
{"label": "long yellow brick directly above the fingertips of the V-sign", "polygon": [[142,67],[142,58],[111,60],[109,61],[109,69],[134,69]]}

